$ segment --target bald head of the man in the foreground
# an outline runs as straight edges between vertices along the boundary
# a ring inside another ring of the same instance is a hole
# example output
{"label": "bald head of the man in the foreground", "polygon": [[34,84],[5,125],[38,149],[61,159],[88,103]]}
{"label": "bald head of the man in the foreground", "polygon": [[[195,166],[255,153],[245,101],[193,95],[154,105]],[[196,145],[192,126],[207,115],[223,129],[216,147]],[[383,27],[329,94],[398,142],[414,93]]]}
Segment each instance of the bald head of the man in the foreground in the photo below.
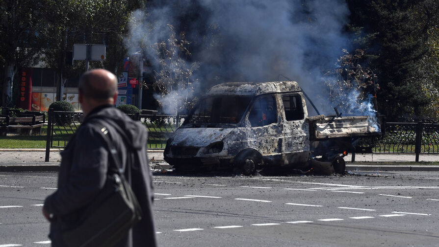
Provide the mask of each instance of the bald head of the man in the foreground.
{"label": "bald head of the man in the foreground", "polygon": [[101,105],[114,105],[117,98],[117,78],[108,70],[94,69],[79,80],[79,103],[84,114]]}

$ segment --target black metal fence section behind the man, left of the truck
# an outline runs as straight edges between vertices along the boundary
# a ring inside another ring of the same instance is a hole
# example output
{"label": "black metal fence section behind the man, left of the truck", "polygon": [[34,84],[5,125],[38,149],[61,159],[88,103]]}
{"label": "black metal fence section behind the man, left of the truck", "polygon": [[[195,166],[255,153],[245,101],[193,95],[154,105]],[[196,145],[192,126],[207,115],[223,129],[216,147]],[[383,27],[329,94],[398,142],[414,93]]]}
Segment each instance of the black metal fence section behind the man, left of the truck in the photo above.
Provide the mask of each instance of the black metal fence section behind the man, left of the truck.
{"label": "black metal fence section behind the man, left of the truck", "polygon": [[[49,161],[51,148],[66,147],[84,118],[82,112],[48,112],[46,158]],[[148,149],[164,149],[169,136],[184,121],[184,115],[127,114],[133,120],[142,121],[148,129]]]}

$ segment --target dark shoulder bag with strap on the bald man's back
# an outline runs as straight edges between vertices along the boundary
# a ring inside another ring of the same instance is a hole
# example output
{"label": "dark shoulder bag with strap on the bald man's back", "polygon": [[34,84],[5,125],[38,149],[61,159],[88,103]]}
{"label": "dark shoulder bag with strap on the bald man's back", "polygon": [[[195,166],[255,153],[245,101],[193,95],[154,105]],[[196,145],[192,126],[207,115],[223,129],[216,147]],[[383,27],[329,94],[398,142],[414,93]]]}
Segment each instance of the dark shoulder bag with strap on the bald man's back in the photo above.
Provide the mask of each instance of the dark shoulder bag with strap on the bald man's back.
{"label": "dark shoulder bag with strap on the bald man's back", "polygon": [[98,196],[84,209],[77,224],[63,232],[67,247],[112,247],[142,219],[142,210],[124,178],[117,151],[107,136],[107,128],[103,127],[101,132],[110,157],[106,182]]}

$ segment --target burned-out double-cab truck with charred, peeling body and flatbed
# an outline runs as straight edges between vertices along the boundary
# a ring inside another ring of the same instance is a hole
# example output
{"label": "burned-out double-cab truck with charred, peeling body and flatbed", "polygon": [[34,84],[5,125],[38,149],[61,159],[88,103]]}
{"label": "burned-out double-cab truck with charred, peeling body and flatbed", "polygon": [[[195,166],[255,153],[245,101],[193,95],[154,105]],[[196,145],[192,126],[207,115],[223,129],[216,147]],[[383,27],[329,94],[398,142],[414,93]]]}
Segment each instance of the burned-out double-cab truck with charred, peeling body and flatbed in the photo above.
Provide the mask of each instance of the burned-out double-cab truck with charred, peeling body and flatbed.
{"label": "burned-out double-cab truck with charred, peeling body and flatbed", "polygon": [[168,139],[164,159],[176,170],[263,167],[307,170],[343,157],[361,136],[379,135],[368,116],[308,116],[296,82],[223,83],[212,87]]}

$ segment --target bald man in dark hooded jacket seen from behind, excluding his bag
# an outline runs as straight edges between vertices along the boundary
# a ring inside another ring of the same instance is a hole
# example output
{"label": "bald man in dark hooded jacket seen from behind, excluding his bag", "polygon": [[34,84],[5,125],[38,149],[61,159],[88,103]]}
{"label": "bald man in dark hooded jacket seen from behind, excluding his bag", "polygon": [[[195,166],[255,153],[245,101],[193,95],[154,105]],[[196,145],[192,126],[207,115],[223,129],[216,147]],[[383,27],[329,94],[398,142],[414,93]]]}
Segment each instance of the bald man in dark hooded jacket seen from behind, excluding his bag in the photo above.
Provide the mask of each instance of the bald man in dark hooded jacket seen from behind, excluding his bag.
{"label": "bald man in dark hooded jacket seen from behind, excluding his bag", "polygon": [[[124,174],[142,207],[143,217],[117,247],[154,247],[152,216],[153,187],[147,158],[147,130],[114,108],[117,78],[104,69],[85,73],[79,81],[79,103],[84,122],[61,152],[58,189],[46,198],[44,216],[51,222],[53,247],[64,247],[61,230],[77,220],[81,211],[98,195],[106,180],[109,154],[101,129],[108,129],[122,161]],[[114,165],[114,164],[112,164]],[[108,217],[111,217],[109,215]]]}

